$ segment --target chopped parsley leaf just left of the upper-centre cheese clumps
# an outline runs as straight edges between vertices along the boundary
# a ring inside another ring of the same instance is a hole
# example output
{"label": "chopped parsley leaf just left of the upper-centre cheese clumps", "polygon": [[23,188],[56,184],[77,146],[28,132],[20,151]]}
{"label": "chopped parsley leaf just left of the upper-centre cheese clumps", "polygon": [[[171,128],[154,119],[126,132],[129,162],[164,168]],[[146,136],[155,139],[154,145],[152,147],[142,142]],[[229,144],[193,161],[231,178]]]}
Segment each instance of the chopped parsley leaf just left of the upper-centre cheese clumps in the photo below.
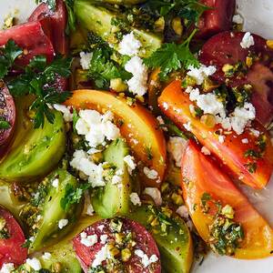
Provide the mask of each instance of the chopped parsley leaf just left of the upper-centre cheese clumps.
{"label": "chopped parsley leaf just left of the upper-centre cheese clumps", "polygon": [[113,78],[129,79],[131,74],[111,59],[107,48],[96,48],[90,62],[88,77],[95,81],[96,87],[107,88]]}

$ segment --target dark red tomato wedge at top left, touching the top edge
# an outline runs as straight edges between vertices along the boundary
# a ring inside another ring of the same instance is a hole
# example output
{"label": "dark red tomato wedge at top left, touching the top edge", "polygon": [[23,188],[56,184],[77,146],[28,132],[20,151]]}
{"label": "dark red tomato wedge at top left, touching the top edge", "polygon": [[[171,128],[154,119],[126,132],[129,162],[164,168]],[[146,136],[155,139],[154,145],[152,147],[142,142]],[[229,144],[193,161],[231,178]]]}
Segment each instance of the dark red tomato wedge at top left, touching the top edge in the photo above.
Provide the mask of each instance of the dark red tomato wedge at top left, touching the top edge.
{"label": "dark red tomato wedge at top left, touching the top edge", "polygon": [[[38,5],[32,15],[28,18],[28,22],[40,21],[44,25],[43,19],[50,18],[50,32],[52,35],[52,44],[57,53],[67,54],[68,44],[66,38],[66,22],[67,12],[66,5],[63,0],[56,1],[56,11],[51,11],[48,5],[42,3]],[[45,25],[46,27],[47,25]]]}

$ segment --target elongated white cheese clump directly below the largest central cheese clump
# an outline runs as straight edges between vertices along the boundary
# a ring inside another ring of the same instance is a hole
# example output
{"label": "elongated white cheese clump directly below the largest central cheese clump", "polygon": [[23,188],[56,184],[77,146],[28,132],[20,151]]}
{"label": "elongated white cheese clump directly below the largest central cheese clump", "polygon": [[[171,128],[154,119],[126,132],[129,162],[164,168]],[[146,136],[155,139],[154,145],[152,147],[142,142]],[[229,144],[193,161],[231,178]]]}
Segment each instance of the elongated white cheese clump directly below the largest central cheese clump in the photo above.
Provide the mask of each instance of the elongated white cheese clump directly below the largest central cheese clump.
{"label": "elongated white cheese clump directly below the largest central cheese clump", "polygon": [[103,177],[103,165],[101,163],[96,165],[90,161],[84,150],[75,151],[73,159],[70,161],[70,166],[83,172],[88,177],[88,181],[92,184],[92,187],[103,187],[106,185]]}

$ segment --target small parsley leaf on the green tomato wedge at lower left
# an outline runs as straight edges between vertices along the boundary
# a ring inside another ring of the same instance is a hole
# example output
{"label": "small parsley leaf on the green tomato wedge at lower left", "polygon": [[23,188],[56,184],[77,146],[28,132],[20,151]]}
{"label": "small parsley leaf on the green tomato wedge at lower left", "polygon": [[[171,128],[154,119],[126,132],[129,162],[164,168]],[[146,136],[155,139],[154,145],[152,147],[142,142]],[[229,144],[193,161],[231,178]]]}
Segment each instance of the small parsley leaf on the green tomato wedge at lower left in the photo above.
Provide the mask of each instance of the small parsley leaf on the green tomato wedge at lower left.
{"label": "small parsley leaf on the green tomato wedge at lower left", "polygon": [[61,199],[61,207],[66,211],[73,204],[78,204],[83,197],[86,189],[90,188],[91,184],[80,184],[78,187],[73,187],[71,184],[66,185],[65,197]]}

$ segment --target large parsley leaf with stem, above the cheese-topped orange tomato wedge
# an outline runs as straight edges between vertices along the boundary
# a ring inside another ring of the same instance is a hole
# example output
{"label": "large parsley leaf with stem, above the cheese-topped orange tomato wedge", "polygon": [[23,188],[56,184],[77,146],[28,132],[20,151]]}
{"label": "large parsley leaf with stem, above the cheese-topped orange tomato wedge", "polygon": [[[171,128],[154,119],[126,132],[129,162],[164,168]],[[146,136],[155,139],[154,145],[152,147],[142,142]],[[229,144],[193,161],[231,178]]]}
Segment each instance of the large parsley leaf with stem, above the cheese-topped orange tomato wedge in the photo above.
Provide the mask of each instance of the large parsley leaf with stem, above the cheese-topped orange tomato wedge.
{"label": "large parsley leaf with stem, above the cheese-topped orange tomato wedge", "polygon": [[167,75],[178,69],[199,66],[197,58],[189,49],[189,43],[196,32],[197,30],[193,31],[181,45],[163,44],[156,52],[146,58],[144,63],[153,69],[160,67],[159,77],[161,80],[167,80]]}

